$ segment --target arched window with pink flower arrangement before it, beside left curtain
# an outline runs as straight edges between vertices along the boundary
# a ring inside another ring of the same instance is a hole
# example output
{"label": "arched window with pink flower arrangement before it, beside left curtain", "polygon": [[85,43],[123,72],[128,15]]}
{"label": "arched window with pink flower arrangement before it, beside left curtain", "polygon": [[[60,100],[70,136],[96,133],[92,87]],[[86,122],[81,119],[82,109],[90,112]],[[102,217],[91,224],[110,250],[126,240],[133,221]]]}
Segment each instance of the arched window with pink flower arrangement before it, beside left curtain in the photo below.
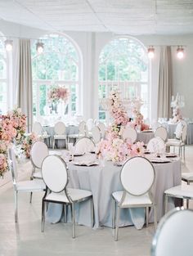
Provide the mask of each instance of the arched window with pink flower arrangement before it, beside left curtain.
{"label": "arched window with pink flower arrangement before it, beside left curtain", "polygon": [[[32,47],[34,116],[52,119],[75,115],[81,108],[79,51],[69,38],[59,34],[46,35],[41,42],[43,53],[37,53],[37,42]],[[68,100],[51,100],[49,95],[54,88],[66,88]]]}

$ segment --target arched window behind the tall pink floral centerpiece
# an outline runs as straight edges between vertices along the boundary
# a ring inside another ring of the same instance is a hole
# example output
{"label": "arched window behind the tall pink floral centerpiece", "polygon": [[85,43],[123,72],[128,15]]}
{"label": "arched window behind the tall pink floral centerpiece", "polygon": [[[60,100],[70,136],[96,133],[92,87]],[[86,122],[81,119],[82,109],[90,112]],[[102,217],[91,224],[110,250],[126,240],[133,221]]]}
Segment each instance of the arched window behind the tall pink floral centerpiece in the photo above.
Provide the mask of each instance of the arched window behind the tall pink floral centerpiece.
{"label": "arched window behind the tall pink floral centerpiece", "polygon": [[[99,99],[118,89],[123,98],[140,97],[144,104],[141,113],[147,118],[149,106],[148,57],[146,48],[135,38],[114,38],[99,56]],[[104,106],[103,106],[104,107]],[[108,113],[99,106],[99,119],[107,120]]]}

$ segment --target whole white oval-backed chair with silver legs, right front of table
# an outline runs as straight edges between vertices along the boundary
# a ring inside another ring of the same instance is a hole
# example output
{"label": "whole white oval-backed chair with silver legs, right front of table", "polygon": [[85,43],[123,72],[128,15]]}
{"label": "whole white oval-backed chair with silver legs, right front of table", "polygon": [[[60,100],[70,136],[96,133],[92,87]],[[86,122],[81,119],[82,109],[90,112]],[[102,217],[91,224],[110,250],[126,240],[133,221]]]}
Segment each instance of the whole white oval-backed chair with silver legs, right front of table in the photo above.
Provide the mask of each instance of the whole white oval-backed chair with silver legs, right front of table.
{"label": "whole white oval-backed chair with silver legs, right front of table", "polygon": [[[120,181],[123,191],[116,191],[113,197],[113,228],[116,230],[114,240],[118,240],[119,231],[119,211],[122,208],[146,208],[146,226],[148,226],[149,208],[153,207],[155,217],[155,227],[157,225],[156,206],[150,188],[155,182],[155,169],[149,160],[137,156],[123,165],[120,173]],[[117,204],[117,210],[115,214]]]}

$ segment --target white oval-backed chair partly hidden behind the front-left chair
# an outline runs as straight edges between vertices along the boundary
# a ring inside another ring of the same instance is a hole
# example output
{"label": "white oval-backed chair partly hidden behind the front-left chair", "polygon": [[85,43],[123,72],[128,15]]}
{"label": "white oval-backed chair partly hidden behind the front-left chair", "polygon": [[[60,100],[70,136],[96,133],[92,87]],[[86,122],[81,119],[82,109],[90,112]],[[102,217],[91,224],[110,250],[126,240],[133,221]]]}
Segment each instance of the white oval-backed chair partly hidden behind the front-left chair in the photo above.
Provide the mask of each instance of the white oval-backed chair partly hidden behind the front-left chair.
{"label": "white oval-backed chair partly hidden behind the front-left chair", "polygon": [[[31,162],[33,165],[33,171],[31,178],[42,178],[41,167],[43,164],[43,159],[49,155],[49,150],[47,145],[43,141],[35,141],[32,145],[30,156]],[[38,168],[38,172],[36,172],[36,168]]]}

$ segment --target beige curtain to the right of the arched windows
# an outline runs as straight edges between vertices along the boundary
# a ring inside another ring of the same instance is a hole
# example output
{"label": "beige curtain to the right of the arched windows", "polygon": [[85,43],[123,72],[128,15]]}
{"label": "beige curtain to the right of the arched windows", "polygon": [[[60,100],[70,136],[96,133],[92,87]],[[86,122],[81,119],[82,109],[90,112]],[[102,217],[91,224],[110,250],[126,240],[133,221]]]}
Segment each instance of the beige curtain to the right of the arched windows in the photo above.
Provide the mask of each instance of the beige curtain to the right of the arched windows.
{"label": "beige curtain to the right of the arched windows", "polygon": [[172,55],[171,47],[161,47],[159,59],[158,118],[170,118],[172,98]]}

